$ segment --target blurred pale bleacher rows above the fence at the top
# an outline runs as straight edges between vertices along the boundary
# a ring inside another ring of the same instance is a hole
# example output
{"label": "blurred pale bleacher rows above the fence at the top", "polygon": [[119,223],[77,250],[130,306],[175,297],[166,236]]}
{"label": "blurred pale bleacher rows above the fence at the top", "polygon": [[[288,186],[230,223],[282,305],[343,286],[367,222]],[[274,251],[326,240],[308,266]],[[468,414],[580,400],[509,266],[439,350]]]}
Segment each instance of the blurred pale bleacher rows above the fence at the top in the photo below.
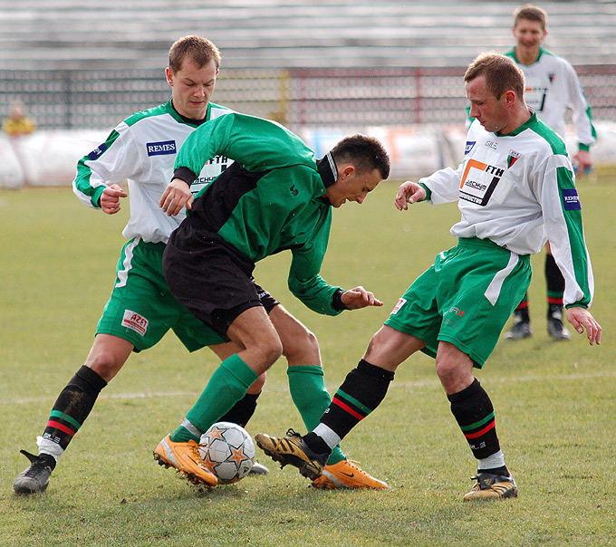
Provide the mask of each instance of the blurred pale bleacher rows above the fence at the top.
{"label": "blurred pale bleacher rows above the fence at the top", "polygon": [[[616,4],[540,2],[548,46],[573,64],[616,58]],[[159,68],[184,34],[207,35],[227,68],[464,66],[503,50],[515,2],[381,0],[0,0],[5,69]]]}

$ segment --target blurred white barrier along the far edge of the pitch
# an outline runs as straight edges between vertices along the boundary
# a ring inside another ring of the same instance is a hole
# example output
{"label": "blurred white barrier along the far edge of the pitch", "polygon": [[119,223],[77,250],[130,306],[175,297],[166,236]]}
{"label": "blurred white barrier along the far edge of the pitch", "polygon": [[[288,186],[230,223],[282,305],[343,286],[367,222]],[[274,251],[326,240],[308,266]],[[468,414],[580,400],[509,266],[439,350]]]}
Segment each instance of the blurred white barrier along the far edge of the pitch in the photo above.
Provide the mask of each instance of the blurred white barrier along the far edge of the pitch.
{"label": "blurred white barrier along the far edge of the pitch", "polygon": [[[597,122],[597,143],[591,149],[595,166],[616,166],[616,122]],[[444,167],[457,167],[463,157],[466,131],[462,128],[413,126],[359,129],[381,140],[391,158],[391,179],[424,177]],[[300,130],[298,133],[322,158],[350,130]],[[75,176],[77,161],[95,149],[107,133],[102,131],[37,131],[9,138],[0,133],[0,187],[66,186]],[[567,128],[567,148],[577,143]]]}

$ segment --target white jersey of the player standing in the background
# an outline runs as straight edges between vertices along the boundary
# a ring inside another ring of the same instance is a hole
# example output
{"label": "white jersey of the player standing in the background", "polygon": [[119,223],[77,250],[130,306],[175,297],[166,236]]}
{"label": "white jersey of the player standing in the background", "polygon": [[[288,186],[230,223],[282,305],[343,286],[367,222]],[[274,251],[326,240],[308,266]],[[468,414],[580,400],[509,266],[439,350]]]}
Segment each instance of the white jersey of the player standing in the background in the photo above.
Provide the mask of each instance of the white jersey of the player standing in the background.
{"label": "white jersey of the player standing in the background", "polygon": [[592,127],[591,109],[584,97],[580,81],[573,66],[563,57],[543,49],[533,64],[525,65],[515,57],[515,50],[506,53],[525,74],[525,101],[539,117],[564,138],[564,116],[572,110],[575,135],[588,149],[596,140]]}

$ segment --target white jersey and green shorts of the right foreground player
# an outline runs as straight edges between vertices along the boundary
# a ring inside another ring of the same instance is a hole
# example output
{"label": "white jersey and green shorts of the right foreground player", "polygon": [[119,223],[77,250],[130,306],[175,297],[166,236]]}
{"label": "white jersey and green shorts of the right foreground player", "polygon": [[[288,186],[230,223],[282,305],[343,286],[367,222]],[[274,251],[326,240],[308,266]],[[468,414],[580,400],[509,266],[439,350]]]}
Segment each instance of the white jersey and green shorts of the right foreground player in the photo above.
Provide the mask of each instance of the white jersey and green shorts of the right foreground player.
{"label": "white jersey and green shorts of the right foreground player", "polygon": [[[419,277],[419,284],[413,283],[400,299],[387,324],[418,338],[429,331],[416,313],[405,310],[415,305],[409,301],[420,286],[428,292],[421,296],[424,308],[434,305],[437,320],[442,321],[439,332],[430,331],[425,340],[433,345],[427,352],[436,351],[435,341],[450,341],[481,366],[530,283],[530,264],[526,267],[520,261],[527,262],[529,254],[539,253],[548,237],[565,279],[564,304],[589,307],[594,282],[573,180],[563,139],[535,114],[509,135],[490,133],[475,120],[458,168],[441,169],[419,183],[427,189],[426,200],[432,204],[457,201],[461,219],[451,234],[458,238],[458,247],[470,247],[475,255],[469,259],[466,253],[464,260],[476,264],[469,262],[465,270],[452,250],[440,254],[435,265]],[[488,246],[482,248],[481,242]],[[497,254],[502,255],[500,259],[495,259]],[[491,272],[484,263],[494,264]],[[434,277],[435,271],[442,279],[450,275],[453,281],[442,283],[438,275]],[[431,276],[428,282],[426,276]],[[468,282],[477,276],[482,279]],[[452,283],[457,283],[458,294],[452,295]],[[501,305],[504,295],[507,302],[501,312],[486,311],[486,305]],[[474,315],[473,310],[480,312]],[[458,323],[460,334],[452,334],[452,323]],[[471,329],[476,331],[475,342],[467,336]]]}

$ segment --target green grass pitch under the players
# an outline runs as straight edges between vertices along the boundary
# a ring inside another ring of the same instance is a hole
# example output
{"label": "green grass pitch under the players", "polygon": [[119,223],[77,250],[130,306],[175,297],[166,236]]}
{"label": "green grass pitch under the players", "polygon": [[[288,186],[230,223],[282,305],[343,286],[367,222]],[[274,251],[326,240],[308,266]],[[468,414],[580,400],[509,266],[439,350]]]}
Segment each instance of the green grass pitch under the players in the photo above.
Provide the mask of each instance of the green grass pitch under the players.
{"label": "green grass pitch under the players", "polygon": [[[475,462],[434,362],[414,356],[385,401],[344,440],[351,459],[390,484],[386,492],[321,492],[294,468],[202,492],[151,452],[205,386],[217,360],[188,354],[168,335],[134,354],[103,390],[45,494],[17,497],[14,476],[36,451],[57,394],[91,346],[111,292],[128,203],[115,217],[82,206],[70,188],[0,191],[0,545],[51,546],[589,546],[616,545],[616,187],[610,174],[579,184],[596,297],[599,347],[545,331],[543,256],[534,257],[534,337],[501,341],[477,372],[493,399],[520,497],[463,504]],[[383,308],[322,317],[286,288],[289,255],[256,278],[321,341],[326,383],[338,388],[409,283],[455,244],[456,206],[393,206],[383,183],[363,206],[334,212],[323,276],[362,284]],[[302,430],[285,364],[268,373],[251,433]]]}

